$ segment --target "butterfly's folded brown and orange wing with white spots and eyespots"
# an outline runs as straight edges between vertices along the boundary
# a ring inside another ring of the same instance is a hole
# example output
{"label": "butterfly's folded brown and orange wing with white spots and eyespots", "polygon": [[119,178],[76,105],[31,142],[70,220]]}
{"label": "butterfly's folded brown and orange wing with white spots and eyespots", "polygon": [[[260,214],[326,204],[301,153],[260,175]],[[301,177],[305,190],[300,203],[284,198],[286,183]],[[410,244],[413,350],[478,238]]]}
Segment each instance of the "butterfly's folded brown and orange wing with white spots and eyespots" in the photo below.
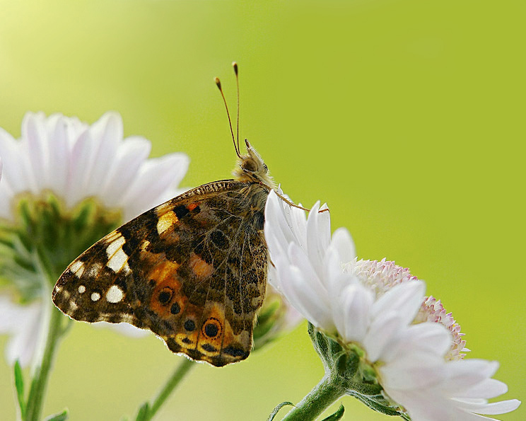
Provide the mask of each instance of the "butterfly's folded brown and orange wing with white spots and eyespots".
{"label": "butterfly's folded brown and orange wing with white spots and eyespots", "polygon": [[173,352],[221,367],[245,359],[267,284],[267,190],[202,185],[119,227],[57,281],[53,302],[78,321],[152,330]]}

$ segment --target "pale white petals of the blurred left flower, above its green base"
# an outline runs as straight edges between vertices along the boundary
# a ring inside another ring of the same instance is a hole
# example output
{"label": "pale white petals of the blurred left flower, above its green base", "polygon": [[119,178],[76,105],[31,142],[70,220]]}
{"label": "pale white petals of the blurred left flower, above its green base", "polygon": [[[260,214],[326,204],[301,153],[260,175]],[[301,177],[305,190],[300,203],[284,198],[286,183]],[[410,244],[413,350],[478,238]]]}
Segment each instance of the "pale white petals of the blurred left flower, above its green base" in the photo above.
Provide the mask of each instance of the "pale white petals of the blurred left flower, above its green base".
{"label": "pale white petals of the blurred left flower, above its green base", "polygon": [[188,157],[146,159],[150,149],[144,137],[123,139],[118,113],[106,113],[93,125],[60,114],[27,113],[20,140],[0,128],[0,217],[13,219],[11,202],[19,193],[51,190],[68,207],[96,197],[110,209],[122,209],[129,221],[182,192],[177,185]]}

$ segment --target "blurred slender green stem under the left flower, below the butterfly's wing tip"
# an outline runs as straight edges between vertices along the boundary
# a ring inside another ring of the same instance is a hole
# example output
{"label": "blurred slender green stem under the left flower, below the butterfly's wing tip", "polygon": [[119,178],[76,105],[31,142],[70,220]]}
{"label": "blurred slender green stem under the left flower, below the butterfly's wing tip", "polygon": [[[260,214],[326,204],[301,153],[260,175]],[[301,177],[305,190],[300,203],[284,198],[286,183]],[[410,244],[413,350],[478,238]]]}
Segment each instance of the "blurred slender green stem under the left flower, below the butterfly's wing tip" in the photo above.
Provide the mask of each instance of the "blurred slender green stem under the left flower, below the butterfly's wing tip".
{"label": "blurred slender green stem under the left flower, below the butterfly's wing tip", "polygon": [[35,369],[35,375],[31,382],[25,421],[38,421],[40,419],[47,381],[53,364],[54,353],[57,350],[59,339],[63,333],[63,319],[64,316],[62,316],[62,313],[52,306],[44,353],[42,354],[42,362],[40,362],[40,366]]}

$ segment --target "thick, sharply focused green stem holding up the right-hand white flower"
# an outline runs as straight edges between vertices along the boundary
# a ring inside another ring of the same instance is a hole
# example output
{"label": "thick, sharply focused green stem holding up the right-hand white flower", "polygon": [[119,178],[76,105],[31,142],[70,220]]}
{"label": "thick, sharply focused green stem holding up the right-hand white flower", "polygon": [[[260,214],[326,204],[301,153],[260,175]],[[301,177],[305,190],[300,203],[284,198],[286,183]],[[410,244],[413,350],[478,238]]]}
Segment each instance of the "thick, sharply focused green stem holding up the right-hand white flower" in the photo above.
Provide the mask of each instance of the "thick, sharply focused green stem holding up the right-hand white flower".
{"label": "thick, sharply focused green stem holding up the right-hand white flower", "polygon": [[315,420],[338,398],[344,396],[345,388],[339,384],[335,376],[325,374],[320,383],[296,405],[283,421]]}

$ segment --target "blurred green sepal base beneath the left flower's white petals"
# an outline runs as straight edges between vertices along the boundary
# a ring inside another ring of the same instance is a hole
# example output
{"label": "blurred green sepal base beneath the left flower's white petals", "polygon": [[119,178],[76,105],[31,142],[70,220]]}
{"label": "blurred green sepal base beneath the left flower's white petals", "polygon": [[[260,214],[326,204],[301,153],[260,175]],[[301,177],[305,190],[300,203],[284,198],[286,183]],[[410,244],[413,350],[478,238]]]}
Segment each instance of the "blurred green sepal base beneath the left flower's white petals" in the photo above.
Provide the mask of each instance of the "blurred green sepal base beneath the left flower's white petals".
{"label": "blurred green sepal base beneath the left flower's white petals", "polygon": [[93,199],[73,209],[48,192],[16,200],[16,221],[0,222],[0,282],[11,284],[21,303],[42,294],[42,272],[54,285],[69,263],[122,219]]}

